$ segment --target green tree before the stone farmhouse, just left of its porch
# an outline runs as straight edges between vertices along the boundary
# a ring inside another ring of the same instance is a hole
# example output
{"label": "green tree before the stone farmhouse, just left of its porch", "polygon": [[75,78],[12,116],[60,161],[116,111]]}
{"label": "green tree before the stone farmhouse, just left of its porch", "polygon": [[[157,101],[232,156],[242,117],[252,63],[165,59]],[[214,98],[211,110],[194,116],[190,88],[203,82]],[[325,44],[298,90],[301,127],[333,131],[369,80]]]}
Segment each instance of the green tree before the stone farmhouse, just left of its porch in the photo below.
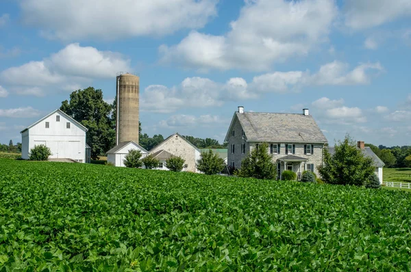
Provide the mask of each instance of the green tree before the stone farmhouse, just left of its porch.
{"label": "green tree before the stone farmhouse, just left of its porch", "polygon": [[260,144],[254,148],[241,162],[238,176],[244,178],[273,179],[276,175],[273,158],[269,154],[269,145]]}

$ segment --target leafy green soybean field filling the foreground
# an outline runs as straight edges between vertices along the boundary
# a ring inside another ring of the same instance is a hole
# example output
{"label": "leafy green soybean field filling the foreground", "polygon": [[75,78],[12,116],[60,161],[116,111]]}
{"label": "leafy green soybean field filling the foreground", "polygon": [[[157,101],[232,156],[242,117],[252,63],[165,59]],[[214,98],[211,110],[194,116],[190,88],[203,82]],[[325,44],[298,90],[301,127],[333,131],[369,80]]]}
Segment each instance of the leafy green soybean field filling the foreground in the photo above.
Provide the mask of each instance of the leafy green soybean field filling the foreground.
{"label": "leafy green soybean field filling the foreground", "polygon": [[0,159],[0,271],[410,271],[411,193]]}

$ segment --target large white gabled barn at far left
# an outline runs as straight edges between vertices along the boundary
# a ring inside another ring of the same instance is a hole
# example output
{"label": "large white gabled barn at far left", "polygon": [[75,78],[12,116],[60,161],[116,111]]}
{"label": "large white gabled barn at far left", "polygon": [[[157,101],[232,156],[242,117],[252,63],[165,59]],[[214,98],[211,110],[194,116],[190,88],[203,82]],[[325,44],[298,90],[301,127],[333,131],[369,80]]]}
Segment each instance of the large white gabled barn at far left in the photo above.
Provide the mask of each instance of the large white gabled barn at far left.
{"label": "large white gabled barn at far left", "polygon": [[34,146],[50,148],[49,159],[70,159],[86,162],[87,128],[60,109],[49,113],[21,131],[21,158],[29,159]]}

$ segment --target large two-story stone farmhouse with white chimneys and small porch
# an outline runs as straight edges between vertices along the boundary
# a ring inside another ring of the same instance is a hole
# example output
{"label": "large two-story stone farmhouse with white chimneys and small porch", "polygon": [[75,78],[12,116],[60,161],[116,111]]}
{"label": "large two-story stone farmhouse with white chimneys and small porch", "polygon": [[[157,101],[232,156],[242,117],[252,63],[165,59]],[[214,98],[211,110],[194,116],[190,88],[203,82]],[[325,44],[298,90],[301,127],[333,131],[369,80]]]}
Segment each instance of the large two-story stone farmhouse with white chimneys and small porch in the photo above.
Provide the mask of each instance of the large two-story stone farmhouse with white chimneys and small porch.
{"label": "large two-story stone farmhouse with white chimneys and small porch", "polygon": [[308,109],[303,109],[303,113],[262,113],[245,112],[244,107],[238,107],[225,142],[231,167],[240,169],[242,159],[266,143],[277,164],[277,177],[290,170],[301,178],[306,170],[319,174],[317,167],[323,165],[327,139]]}

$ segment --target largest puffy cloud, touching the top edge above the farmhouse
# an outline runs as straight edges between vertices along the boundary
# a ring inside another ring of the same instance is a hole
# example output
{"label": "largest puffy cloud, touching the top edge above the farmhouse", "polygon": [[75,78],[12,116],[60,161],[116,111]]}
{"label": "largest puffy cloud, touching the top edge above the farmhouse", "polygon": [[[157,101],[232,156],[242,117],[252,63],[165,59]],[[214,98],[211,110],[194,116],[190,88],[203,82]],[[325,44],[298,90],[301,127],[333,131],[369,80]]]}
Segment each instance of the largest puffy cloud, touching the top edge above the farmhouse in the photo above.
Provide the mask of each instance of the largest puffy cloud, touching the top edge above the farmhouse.
{"label": "largest puffy cloud, touching the top edge above the farmhouse", "polygon": [[273,62],[306,55],[326,40],[336,14],[332,0],[245,1],[228,33],[192,31],[177,45],[160,46],[162,62],[199,70],[267,70]]}

